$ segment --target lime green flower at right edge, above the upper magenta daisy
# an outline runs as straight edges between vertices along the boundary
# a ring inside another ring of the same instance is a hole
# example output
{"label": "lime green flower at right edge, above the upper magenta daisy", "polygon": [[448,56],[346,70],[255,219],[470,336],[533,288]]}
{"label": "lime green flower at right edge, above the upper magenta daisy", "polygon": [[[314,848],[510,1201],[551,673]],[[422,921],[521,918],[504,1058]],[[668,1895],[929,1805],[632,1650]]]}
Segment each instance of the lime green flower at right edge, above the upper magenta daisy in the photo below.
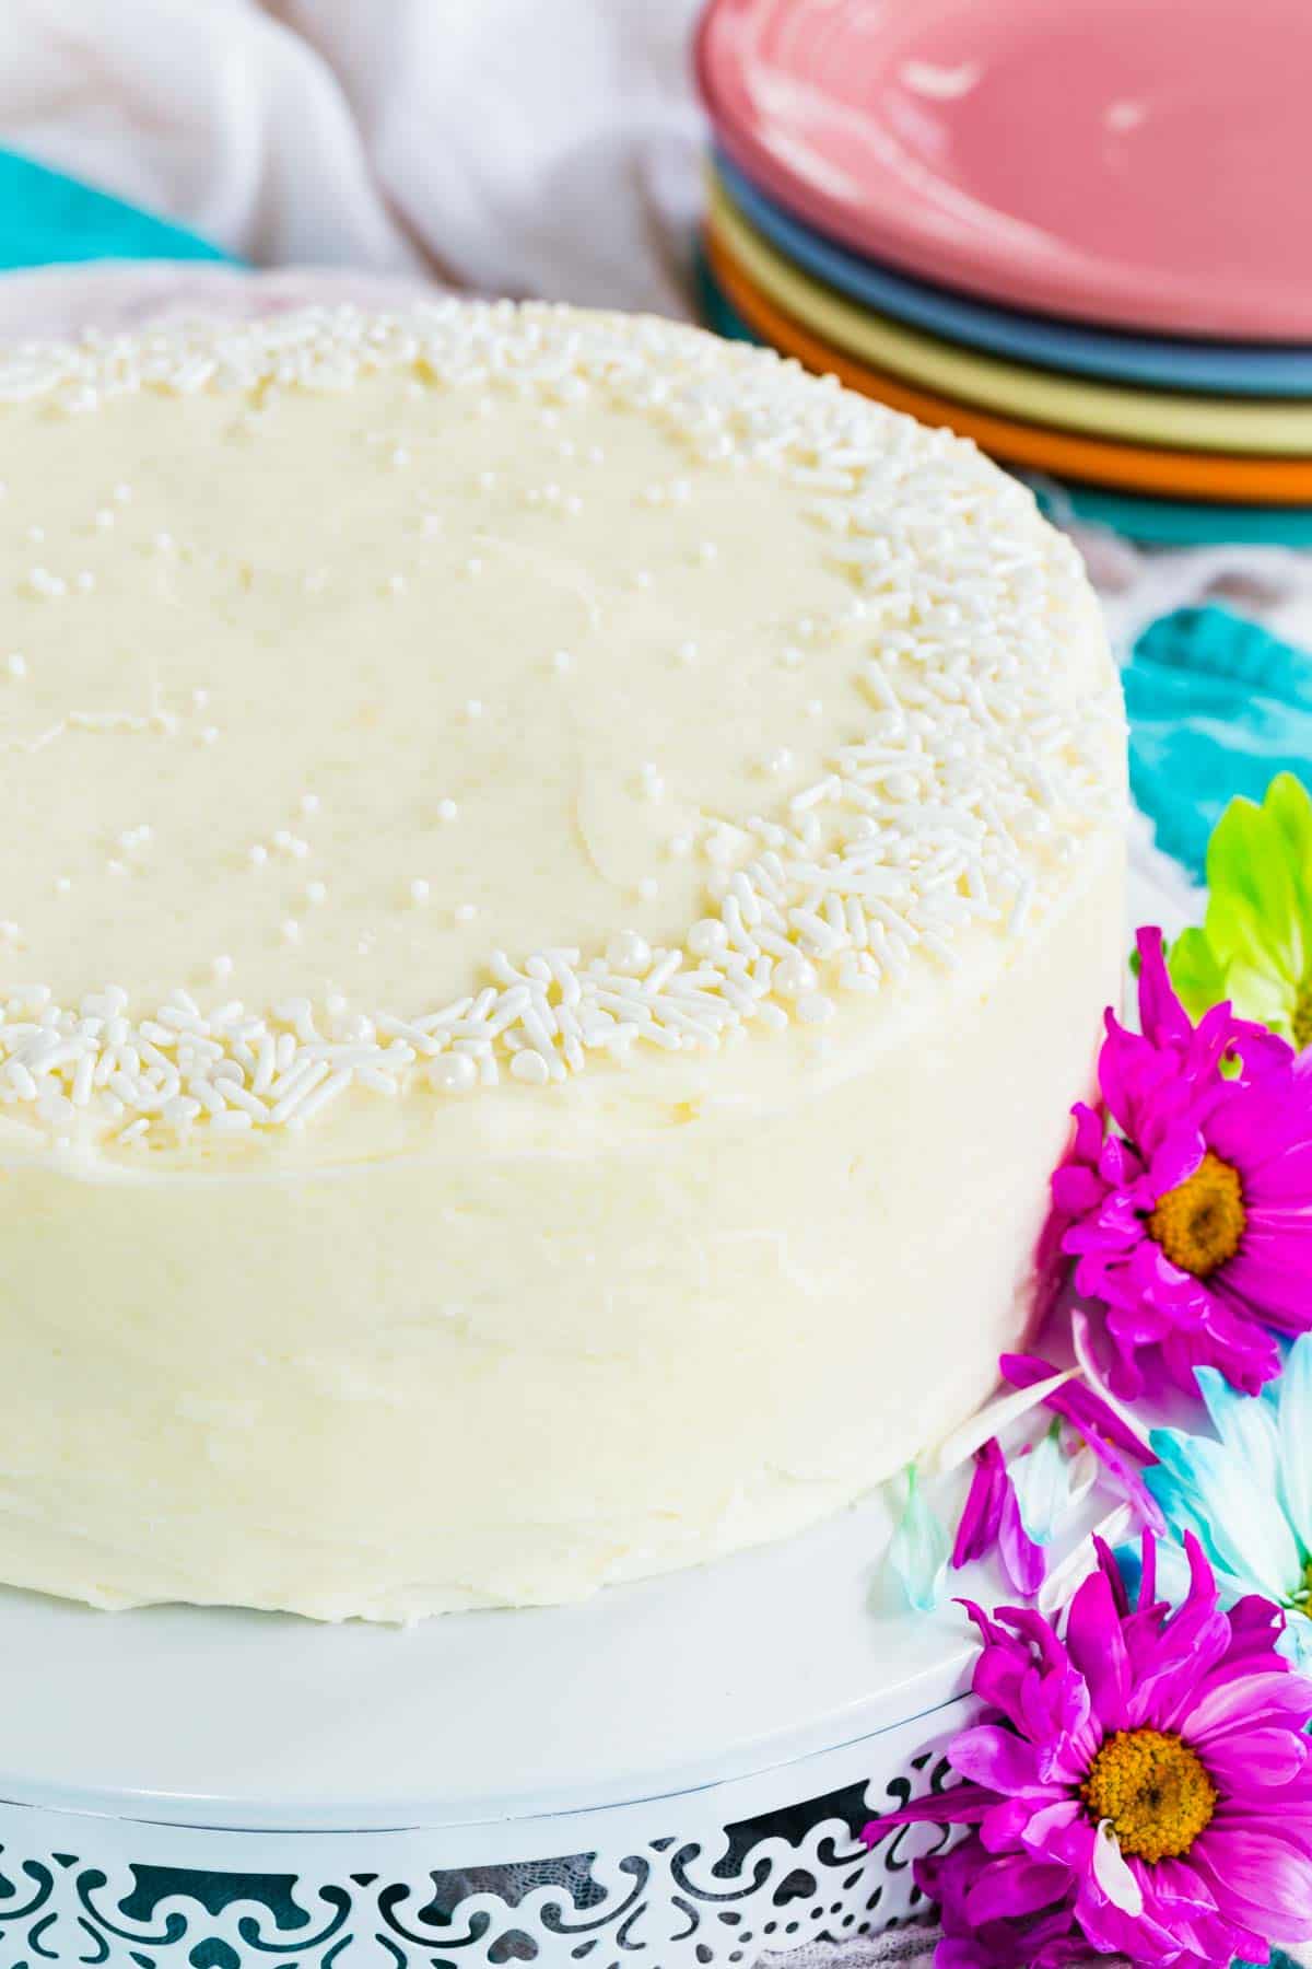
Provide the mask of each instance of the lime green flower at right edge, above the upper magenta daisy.
{"label": "lime green flower at right edge, above the upper magenta daisy", "polygon": [[1241,1018],[1312,1046],[1312,799],[1292,772],[1261,807],[1225,807],[1208,843],[1204,927],[1186,929],[1168,963],[1194,1018],[1229,998]]}

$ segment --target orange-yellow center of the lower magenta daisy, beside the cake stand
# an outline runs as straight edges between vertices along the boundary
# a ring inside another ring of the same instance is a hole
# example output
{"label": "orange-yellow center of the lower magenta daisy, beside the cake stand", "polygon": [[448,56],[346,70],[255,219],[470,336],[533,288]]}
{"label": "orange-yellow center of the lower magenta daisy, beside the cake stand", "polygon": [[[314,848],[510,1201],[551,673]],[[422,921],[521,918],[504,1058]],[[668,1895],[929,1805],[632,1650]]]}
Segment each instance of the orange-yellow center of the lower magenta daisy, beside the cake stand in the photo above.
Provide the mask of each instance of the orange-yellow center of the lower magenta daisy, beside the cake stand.
{"label": "orange-yellow center of the lower magenta daisy, beside the cake stand", "polygon": [[1107,1737],[1080,1798],[1090,1817],[1109,1821],[1125,1859],[1182,1859],[1216,1811],[1216,1786],[1200,1756],[1161,1729]]}

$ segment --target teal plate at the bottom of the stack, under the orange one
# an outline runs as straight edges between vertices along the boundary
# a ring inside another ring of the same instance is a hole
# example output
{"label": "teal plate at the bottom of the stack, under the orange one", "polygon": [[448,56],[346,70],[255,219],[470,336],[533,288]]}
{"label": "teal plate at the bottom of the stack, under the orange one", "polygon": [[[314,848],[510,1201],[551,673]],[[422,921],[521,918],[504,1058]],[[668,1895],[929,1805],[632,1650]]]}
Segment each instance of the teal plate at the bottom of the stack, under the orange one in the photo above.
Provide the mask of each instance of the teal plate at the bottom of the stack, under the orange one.
{"label": "teal plate at the bottom of the stack, under the orange one", "polygon": [[[734,343],[757,343],[722,291],[706,258],[696,258],[696,297],[702,321]],[[1021,473],[1025,478],[1027,475]],[[1210,506],[1204,500],[1147,498],[1102,486],[1029,480],[1048,518],[1088,520],[1127,540],[1161,547],[1312,547],[1312,506]]]}

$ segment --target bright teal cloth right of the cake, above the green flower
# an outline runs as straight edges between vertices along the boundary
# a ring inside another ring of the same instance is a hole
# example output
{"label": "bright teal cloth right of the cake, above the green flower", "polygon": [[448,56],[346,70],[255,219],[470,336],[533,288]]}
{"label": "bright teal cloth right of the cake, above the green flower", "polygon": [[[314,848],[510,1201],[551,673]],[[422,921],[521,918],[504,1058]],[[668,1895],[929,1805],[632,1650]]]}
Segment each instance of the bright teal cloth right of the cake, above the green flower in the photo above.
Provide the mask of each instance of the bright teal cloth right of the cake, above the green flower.
{"label": "bright teal cloth right of the cake, above the green flower", "polygon": [[1261,799],[1277,772],[1312,792],[1312,658],[1229,608],[1153,622],[1125,667],[1125,707],[1135,803],[1198,880],[1227,799]]}

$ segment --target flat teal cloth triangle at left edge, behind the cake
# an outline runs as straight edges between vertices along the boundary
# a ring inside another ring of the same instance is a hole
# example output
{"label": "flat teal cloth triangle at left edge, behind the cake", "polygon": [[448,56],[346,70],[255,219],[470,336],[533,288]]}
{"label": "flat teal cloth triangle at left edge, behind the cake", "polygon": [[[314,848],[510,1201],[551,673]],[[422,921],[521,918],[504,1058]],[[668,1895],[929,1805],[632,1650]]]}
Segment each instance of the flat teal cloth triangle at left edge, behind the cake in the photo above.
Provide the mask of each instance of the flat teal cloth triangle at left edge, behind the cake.
{"label": "flat teal cloth triangle at left edge, behind the cake", "polygon": [[228,260],[195,232],[0,150],[0,268],[75,260]]}

